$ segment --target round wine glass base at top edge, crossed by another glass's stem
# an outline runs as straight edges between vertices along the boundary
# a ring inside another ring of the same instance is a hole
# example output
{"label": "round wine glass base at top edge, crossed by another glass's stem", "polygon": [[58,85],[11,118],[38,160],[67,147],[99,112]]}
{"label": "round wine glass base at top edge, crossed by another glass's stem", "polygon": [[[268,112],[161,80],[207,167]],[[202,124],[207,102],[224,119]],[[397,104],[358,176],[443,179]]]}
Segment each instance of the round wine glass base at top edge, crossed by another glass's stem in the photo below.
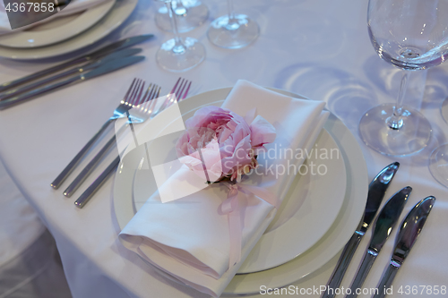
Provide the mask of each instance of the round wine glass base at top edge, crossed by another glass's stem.
{"label": "round wine glass base at top edge, crossed by another glass's stem", "polygon": [[[209,9],[198,0],[173,1],[173,12],[177,15],[177,32],[187,32],[201,26],[209,18]],[[166,6],[162,6],[155,16],[159,29],[172,32],[171,21]]]}

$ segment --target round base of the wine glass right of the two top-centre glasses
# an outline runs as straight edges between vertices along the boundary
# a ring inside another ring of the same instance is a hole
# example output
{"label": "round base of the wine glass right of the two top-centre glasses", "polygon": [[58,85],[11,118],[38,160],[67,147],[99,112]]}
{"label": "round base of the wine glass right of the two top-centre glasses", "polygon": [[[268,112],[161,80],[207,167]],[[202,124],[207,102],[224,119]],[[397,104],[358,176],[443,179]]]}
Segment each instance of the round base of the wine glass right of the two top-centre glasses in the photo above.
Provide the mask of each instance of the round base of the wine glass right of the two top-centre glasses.
{"label": "round base of the wine glass right of the two top-centre glasses", "polygon": [[233,21],[229,21],[228,15],[224,15],[211,22],[207,37],[215,46],[240,48],[252,43],[259,32],[258,24],[245,14],[235,15]]}

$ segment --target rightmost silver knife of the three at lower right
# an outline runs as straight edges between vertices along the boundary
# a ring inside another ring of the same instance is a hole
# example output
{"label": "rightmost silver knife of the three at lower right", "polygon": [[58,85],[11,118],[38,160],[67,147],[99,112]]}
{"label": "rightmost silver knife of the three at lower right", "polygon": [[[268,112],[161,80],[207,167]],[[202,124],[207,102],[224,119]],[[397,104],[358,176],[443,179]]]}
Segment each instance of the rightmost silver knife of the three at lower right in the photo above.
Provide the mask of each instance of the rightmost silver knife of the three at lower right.
{"label": "rightmost silver knife of the three at lower right", "polygon": [[429,216],[429,212],[433,209],[435,204],[435,197],[429,196],[423,200],[420,200],[412,210],[409,211],[408,216],[403,220],[401,224],[400,232],[397,234],[395,240],[395,248],[392,252],[391,262],[383,273],[381,281],[376,286],[378,291],[372,296],[372,298],[383,298],[387,294],[387,290],[392,285],[393,278],[397,274],[404,260],[409,255],[410,249],[414,246],[418,235],[420,234],[423,226],[425,226],[426,219]]}

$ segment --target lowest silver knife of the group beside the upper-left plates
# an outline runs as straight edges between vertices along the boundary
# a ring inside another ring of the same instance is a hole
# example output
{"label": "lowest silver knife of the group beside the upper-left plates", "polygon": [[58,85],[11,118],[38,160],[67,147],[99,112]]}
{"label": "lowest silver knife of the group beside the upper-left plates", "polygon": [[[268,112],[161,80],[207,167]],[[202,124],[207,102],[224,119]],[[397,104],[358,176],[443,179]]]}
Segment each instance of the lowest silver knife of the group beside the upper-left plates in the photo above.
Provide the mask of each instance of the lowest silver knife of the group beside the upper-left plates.
{"label": "lowest silver knife of the group beside the upper-left plates", "polygon": [[94,69],[93,71],[82,73],[80,75],[76,75],[73,78],[67,79],[65,81],[58,81],[52,85],[47,85],[45,87],[42,87],[40,89],[34,89],[28,93],[24,93],[22,95],[19,95],[15,98],[9,98],[5,99],[3,101],[0,101],[0,109],[7,108],[9,106],[17,105],[24,100],[34,98],[40,94],[47,93],[48,91],[62,88],[66,85],[72,84],[74,82],[78,81],[86,81],[95,77],[98,77],[99,75],[108,73],[108,72],[114,72],[120,68],[123,68],[125,66],[136,64],[137,62],[140,62],[144,59],[144,56],[142,55],[134,55],[131,57],[125,57],[116,59],[113,61],[108,62],[107,64],[104,64],[100,66],[99,68]]}

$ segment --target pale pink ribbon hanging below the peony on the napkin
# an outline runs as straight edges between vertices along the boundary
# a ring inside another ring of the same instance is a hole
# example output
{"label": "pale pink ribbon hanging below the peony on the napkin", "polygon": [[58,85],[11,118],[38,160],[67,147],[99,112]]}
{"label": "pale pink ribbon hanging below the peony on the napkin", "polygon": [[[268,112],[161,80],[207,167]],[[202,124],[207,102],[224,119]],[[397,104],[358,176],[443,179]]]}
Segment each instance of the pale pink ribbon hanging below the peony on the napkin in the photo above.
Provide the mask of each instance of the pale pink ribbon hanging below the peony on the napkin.
{"label": "pale pink ribbon hanging below the peony on the napkin", "polygon": [[241,260],[242,227],[239,213],[238,193],[244,192],[246,196],[252,193],[258,198],[270,203],[275,209],[279,209],[280,200],[273,193],[262,187],[247,184],[224,183],[229,188],[227,200],[221,204],[221,211],[228,215],[228,232],[230,236],[230,250],[228,268],[231,268]]}

